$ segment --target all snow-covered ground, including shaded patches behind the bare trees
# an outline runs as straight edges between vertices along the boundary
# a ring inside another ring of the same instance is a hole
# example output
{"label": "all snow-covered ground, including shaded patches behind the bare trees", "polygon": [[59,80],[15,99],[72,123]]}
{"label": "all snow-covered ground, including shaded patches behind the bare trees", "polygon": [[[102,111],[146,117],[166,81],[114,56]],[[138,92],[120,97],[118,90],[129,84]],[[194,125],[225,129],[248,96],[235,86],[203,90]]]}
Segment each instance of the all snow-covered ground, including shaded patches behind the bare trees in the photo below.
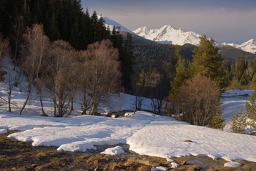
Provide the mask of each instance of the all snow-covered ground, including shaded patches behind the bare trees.
{"label": "all snow-covered ground, including shaded patches behind the bare trees", "polygon": [[[7,97],[7,84],[0,83],[0,94]],[[244,159],[256,162],[256,137],[246,134],[234,134],[203,126],[192,126],[189,123],[138,111],[127,117],[110,118],[105,116],[79,115],[67,118],[42,117],[38,99],[34,94],[23,115],[18,110],[23,104],[26,93],[20,87],[13,92],[12,113],[7,112],[6,102],[0,101],[0,132],[20,130],[9,137],[32,145],[56,146],[59,151],[86,151],[95,149],[95,145],[118,145],[127,143],[131,151],[149,156],[160,156],[169,159],[176,156],[204,155],[213,159],[222,158],[227,161]],[[252,91],[228,91],[223,94],[223,116],[229,121],[233,113],[244,107],[248,97],[238,94],[252,94]],[[236,96],[235,96],[236,95]],[[121,98],[121,99],[118,99]],[[241,99],[242,98],[242,99]],[[244,99],[243,99],[244,98]],[[112,94],[109,106],[134,110],[135,97],[127,94]],[[75,110],[80,111],[79,98],[75,101]],[[52,105],[45,99],[50,113]],[[114,105],[116,104],[116,105]],[[143,108],[151,109],[150,99],[144,99]],[[113,109],[112,109],[113,110]],[[123,153],[121,147],[110,148],[105,153]]]}

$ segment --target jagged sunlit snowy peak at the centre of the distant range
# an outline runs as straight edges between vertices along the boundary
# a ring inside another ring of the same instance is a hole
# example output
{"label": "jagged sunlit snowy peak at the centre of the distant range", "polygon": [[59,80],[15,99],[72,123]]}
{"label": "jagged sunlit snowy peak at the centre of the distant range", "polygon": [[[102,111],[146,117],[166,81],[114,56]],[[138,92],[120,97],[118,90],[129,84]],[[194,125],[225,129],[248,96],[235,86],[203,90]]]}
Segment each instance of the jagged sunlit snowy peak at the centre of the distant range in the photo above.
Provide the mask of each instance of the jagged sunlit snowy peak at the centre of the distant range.
{"label": "jagged sunlit snowy peak at the centre of the distant range", "polygon": [[162,43],[171,43],[173,45],[184,45],[186,43],[198,45],[200,41],[200,34],[196,34],[192,31],[185,32],[181,28],[176,29],[171,26],[163,26],[158,29],[149,29],[144,26],[133,32],[146,39]]}

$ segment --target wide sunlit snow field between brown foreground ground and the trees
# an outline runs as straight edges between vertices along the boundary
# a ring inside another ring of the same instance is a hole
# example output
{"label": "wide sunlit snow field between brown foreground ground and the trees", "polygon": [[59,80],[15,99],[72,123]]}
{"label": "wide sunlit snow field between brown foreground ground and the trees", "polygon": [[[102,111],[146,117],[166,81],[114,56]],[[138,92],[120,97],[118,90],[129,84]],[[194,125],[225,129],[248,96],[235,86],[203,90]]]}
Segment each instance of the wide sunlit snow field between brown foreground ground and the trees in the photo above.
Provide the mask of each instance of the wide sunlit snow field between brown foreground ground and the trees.
{"label": "wide sunlit snow field between brown foreground ground and the trees", "polygon": [[[30,121],[35,121],[36,118],[37,124],[34,124],[33,129],[30,126],[26,131],[10,134],[9,137],[33,142],[34,146],[54,145],[59,147],[59,151],[86,151],[95,149],[94,145],[127,143],[131,151],[149,156],[170,158],[203,155],[227,161],[244,159],[256,162],[256,153],[253,153],[256,148],[255,136],[192,126],[146,112],[137,112],[134,116],[125,118],[88,115],[62,119],[48,117],[41,120],[42,123],[37,119],[39,117],[0,116],[1,126],[21,130],[27,124],[23,122],[24,118]],[[15,122],[19,127],[15,126]],[[44,126],[45,123],[47,126]],[[185,140],[192,142],[184,142]]]}

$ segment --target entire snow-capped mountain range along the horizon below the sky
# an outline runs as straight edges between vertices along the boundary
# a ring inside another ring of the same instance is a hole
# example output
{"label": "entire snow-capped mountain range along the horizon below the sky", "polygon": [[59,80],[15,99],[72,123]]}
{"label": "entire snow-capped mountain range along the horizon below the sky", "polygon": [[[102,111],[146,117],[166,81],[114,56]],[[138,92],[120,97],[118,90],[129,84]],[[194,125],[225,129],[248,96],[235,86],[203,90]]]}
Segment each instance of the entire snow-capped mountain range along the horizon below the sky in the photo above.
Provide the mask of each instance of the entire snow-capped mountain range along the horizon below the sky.
{"label": "entire snow-capped mountain range along the horizon below the sky", "polygon": [[[103,17],[106,26],[109,26],[110,30],[113,29],[113,26],[120,28],[120,31],[129,32],[130,34],[136,34],[139,37],[143,37],[145,39],[162,43],[162,44],[172,44],[172,45],[199,45],[200,42],[200,34],[197,34],[193,31],[183,31],[181,28],[173,28],[172,26],[162,26],[157,29],[150,29],[146,26],[140,27],[134,31],[130,31],[125,26],[122,26],[120,23],[117,23],[110,18]],[[135,37],[135,35],[134,35]],[[138,37],[136,37],[138,39]],[[146,41],[144,41],[146,42]],[[147,42],[148,43],[148,42]],[[249,53],[256,53],[256,41],[255,39],[249,39],[247,42],[242,43],[241,45],[237,45],[235,43],[218,43],[219,46],[231,46],[236,47],[237,49],[244,50]]]}

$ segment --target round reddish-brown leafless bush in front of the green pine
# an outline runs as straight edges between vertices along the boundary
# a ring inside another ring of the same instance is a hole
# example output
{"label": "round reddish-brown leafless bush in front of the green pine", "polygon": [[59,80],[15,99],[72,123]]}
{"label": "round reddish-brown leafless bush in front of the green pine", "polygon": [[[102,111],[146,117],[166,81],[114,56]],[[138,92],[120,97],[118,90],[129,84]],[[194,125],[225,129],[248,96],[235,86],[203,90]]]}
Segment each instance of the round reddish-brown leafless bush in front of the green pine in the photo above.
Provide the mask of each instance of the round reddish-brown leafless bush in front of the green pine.
{"label": "round reddish-brown leafless bush in front of the green pine", "polygon": [[210,78],[197,75],[181,86],[177,104],[184,121],[206,126],[219,113],[219,97],[219,87]]}

